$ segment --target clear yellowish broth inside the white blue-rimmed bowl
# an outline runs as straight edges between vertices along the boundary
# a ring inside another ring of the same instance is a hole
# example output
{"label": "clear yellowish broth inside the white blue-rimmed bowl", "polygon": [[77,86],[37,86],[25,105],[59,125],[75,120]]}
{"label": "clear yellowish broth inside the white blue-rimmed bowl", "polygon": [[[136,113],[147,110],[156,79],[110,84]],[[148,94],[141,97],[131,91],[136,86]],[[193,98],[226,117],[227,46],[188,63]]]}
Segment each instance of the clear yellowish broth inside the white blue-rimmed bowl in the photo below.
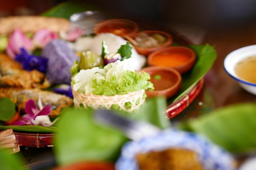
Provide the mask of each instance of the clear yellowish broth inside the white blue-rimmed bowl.
{"label": "clear yellowish broth inside the white blue-rimmed bowl", "polygon": [[235,66],[235,73],[245,81],[256,83],[256,55],[239,61]]}

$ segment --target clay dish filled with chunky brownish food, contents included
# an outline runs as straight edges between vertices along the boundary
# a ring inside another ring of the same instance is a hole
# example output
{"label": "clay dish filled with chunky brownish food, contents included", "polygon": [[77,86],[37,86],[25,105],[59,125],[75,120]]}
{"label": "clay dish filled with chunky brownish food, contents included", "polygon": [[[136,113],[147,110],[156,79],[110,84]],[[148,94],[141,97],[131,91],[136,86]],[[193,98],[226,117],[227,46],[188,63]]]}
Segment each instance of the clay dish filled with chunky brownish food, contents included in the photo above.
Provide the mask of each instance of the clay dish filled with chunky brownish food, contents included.
{"label": "clay dish filled with chunky brownish food, contents included", "polygon": [[147,56],[150,52],[170,46],[173,42],[173,37],[163,31],[146,30],[136,33],[132,39],[125,37],[132,43],[137,52]]}

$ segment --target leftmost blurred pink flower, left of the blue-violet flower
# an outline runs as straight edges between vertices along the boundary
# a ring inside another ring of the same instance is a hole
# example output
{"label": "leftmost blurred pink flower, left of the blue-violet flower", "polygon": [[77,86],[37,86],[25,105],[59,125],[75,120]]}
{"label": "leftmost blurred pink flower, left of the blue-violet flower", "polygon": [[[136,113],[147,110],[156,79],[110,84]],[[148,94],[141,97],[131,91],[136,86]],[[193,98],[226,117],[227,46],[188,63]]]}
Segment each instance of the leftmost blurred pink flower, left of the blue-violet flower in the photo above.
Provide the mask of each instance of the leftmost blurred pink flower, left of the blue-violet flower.
{"label": "leftmost blurred pink flower, left of the blue-violet flower", "polygon": [[34,48],[34,46],[31,39],[26,37],[26,35],[22,33],[19,28],[16,28],[9,36],[6,52],[9,57],[14,59],[15,54],[20,54],[20,48],[30,51]]}

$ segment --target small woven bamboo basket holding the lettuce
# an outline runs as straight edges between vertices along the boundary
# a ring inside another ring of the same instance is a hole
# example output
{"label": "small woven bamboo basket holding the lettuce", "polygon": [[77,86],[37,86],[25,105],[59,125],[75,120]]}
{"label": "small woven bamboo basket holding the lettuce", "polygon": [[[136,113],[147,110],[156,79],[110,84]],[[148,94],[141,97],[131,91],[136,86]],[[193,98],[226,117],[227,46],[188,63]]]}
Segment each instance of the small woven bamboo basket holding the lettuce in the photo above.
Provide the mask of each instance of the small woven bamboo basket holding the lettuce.
{"label": "small woven bamboo basket holding the lettuce", "polygon": [[[73,88],[72,93],[74,96],[74,106],[76,108],[110,110],[112,105],[118,105],[119,110],[124,110],[131,113],[134,111],[137,112],[141,105],[143,105],[143,103],[145,102],[145,98],[143,98],[143,95],[145,93],[144,89],[137,92],[129,92],[128,94],[115,96],[82,94],[75,91]],[[131,107],[126,108],[126,102],[130,102]]]}

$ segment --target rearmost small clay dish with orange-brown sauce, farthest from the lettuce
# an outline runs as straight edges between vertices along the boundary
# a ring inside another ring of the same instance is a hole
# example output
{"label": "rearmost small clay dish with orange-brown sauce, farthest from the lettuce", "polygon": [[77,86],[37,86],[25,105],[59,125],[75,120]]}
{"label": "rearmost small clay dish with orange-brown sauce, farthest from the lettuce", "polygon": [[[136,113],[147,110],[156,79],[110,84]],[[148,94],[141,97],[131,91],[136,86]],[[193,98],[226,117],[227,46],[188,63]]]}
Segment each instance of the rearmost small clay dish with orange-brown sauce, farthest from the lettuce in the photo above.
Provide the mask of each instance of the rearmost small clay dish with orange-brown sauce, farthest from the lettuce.
{"label": "rearmost small clay dish with orange-brown sauce, farthest from the lettuce", "polygon": [[126,19],[110,19],[94,26],[94,33],[113,33],[120,37],[133,36],[139,31],[137,23]]}

